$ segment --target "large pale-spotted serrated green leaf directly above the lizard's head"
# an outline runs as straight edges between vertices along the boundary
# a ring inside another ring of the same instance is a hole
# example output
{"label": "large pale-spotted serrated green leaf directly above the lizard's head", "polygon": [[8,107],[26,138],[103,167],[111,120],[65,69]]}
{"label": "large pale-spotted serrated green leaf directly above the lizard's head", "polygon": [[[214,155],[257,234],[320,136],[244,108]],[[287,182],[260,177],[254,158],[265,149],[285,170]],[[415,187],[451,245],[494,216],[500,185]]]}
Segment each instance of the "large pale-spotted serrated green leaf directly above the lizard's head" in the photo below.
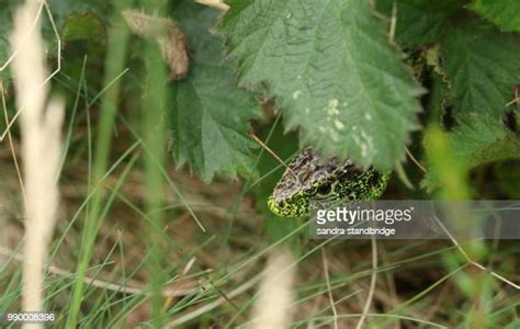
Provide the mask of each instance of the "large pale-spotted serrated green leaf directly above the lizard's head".
{"label": "large pale-spotted serrated green leaf directly above the lizard's head", "polygon": [[422,92],[369,1],[234,0],[221,29],[239,84],[265,83],[287,128],[326,155],[388,169]]}

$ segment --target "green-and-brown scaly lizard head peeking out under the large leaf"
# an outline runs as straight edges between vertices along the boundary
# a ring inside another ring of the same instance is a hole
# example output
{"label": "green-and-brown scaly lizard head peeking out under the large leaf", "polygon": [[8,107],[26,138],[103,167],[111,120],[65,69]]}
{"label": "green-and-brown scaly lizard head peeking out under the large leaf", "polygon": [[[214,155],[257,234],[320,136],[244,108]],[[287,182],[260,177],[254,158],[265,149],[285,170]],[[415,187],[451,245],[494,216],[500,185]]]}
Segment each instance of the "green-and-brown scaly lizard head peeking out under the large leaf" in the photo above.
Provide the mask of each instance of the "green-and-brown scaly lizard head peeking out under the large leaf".
{"label": "green-and-brown scaly lizard head peeking out under the large leaf", "polygon": [[310,148],[302,151],[289,166],[268,200],[271,212],[281,217],[306,216],[341,201],[378,198],[385,191],[389,173],[363,170],[352,161],[336,157],[321,158]]}

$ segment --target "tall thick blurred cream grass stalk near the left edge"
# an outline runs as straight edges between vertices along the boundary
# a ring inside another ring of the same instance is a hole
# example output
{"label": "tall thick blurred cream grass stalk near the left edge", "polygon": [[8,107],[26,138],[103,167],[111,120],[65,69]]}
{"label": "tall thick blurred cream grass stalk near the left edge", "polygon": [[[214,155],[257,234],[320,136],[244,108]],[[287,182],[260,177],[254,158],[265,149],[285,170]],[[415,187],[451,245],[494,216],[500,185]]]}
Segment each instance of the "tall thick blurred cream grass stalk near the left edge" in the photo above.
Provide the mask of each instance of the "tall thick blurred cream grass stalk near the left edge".
{"label": "tall thick blurred cream grass stalk near the left edge", "polygon": [[47,71],[43,57],[43,41],[38,29],[38,4],[27,1],[18,10],[12,48],[19,49],[12,61],[16,102],[24,105],[20,117],[22,159],[26,192],[24,269],[22,307],[27,311],[43,310],[44,265],[50,240],[59,194],[56,175],[61,154],[60,129],[64,102],[53,99],[45,107]]}

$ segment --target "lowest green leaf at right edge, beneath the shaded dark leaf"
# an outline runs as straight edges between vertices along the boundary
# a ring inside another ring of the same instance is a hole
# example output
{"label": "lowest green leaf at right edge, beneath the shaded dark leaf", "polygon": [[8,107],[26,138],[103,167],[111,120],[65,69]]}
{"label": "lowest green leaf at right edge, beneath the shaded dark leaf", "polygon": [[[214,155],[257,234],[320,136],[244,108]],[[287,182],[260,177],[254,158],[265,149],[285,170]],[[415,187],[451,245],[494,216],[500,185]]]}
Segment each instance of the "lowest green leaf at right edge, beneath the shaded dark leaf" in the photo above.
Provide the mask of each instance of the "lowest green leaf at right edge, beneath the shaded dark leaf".
{"label": "lowest green leaf at right edge, beneath the shaded dark leaf", "polygon": [[[520,159],[520,138],[497,118],[479,114],[464,115],[450,133],[450,141],[457,161],[466,170],[491,162]],[[439,188],[434,174],[428,173],[421,185],[428,191]]]}

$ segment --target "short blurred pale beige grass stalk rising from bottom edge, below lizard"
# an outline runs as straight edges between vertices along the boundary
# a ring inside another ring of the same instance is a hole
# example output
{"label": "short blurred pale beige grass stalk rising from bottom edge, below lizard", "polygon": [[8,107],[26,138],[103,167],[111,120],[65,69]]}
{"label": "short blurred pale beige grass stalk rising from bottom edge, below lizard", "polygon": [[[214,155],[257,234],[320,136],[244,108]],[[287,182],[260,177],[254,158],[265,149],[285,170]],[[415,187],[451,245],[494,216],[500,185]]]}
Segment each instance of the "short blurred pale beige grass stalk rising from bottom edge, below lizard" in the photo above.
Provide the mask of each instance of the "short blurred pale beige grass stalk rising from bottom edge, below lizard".
{"label": "short blurred pale beige grass stalk rising from bottom edge, below lizard", "polygon": [[289,328],[292,321],[290,305],[294,300],[295,266],[286,249],[272,253],[263,272],[258,299],[255,304],[252,328]]}

